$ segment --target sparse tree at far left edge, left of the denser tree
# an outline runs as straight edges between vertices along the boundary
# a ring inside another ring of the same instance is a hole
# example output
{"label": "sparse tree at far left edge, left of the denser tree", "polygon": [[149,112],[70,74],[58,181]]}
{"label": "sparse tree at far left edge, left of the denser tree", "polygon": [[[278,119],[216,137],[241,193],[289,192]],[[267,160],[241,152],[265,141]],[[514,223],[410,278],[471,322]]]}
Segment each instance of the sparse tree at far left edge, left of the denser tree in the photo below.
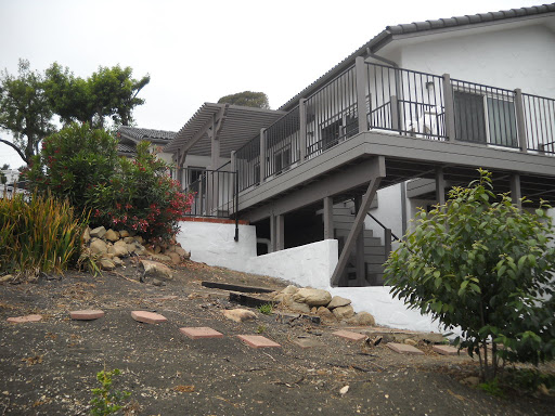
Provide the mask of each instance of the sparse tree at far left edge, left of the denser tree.
{"label": "sparse tree at far left edge, left of the denser tree", "polygon": [[20,60],[17,76],[7,69],[0,75],[0,128],[10,131],[14,141],[0,139],[28,164],[38,152],[39,142],[55,129],[52,108],[44,95],[44,77]]}

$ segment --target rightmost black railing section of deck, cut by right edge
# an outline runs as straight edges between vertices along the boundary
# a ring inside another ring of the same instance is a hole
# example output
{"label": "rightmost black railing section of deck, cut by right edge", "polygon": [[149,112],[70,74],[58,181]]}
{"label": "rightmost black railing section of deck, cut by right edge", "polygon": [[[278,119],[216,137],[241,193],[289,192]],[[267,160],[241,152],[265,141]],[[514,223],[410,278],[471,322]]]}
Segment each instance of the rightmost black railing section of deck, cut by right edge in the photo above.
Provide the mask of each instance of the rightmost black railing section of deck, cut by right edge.
{"label": "rightmost black railing section of deck, cut by right edge", "polygon": [[527,147],[555,154],[555,100],[522,94]]}

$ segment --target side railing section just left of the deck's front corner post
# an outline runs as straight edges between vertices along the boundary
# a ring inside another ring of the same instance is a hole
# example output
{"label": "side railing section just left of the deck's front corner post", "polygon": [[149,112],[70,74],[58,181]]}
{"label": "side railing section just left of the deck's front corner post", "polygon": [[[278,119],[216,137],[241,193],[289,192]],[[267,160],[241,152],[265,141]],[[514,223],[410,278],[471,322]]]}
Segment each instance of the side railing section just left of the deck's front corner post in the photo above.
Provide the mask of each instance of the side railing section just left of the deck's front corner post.
{"label": "side railing section just left of the deck's front corner post", "polygon": [[359,132],[357,77],[350,67],[310,95],[307,114],[307,157],[313,157]]}

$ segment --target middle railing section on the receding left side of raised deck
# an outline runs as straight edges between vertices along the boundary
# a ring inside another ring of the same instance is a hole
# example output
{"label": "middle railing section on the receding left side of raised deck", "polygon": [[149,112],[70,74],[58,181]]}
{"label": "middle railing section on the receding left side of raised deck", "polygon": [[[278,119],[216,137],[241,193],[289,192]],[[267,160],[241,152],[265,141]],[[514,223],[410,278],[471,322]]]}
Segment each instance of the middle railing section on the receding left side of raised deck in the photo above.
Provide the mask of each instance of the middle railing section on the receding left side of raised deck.
{"label": "middle railing section on the receding left side of raised deck", "polygon": [[299,107],[295,107],[264,130],[264,179],[280,174],[299,160]]}

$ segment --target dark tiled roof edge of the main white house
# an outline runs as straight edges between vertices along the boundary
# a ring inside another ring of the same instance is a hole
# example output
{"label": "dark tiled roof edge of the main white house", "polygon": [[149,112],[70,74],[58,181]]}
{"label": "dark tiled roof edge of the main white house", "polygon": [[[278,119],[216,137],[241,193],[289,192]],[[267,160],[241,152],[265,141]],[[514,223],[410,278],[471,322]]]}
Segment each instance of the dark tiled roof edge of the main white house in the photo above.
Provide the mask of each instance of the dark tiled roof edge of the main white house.
{"label": "dark tiled roof edge of the main white house", "polygon": [[534,15],[542,15],[546,13],[553,13],[555,15],[555,3],[543,4],[543,5],[532,5],[528,8],[519,8],[519,9],[511,9],[503,10],[499,12],[490,12],[490,13],[478,13],[465,16],[455,16],[450,18],[439,18],[434,21],[426,22],[414,22],[410,24],[403,25],[395,25],[395,26],[386,26],[385,30],[380,34],[372,38],[370,41],[364,43],[327,73],[325,73],[322,77],[318,78],[310,86],[305,88],[301,92],[295,95],[293,99],[283,104],[280,109],[291,110],[295,105],[298,104],[301,98],[308,98],[312,94],[323,82],[328,81],[336,75],[340,74],[349,66],[354,64],[354,58],[357,56],[366,55],[366,51],[371,53],[377,52],[382,47],[387,44],[390,40],[398,37],[402,37],[404,35],[411,35],[415,32],[430,31],[434,30],[446,30],[454,27],[464,27],[472,25],[480,25],[488,24],[495,21],[505,21],[513,22],[516,20],[520,20],[522,17],[530,17]]}

